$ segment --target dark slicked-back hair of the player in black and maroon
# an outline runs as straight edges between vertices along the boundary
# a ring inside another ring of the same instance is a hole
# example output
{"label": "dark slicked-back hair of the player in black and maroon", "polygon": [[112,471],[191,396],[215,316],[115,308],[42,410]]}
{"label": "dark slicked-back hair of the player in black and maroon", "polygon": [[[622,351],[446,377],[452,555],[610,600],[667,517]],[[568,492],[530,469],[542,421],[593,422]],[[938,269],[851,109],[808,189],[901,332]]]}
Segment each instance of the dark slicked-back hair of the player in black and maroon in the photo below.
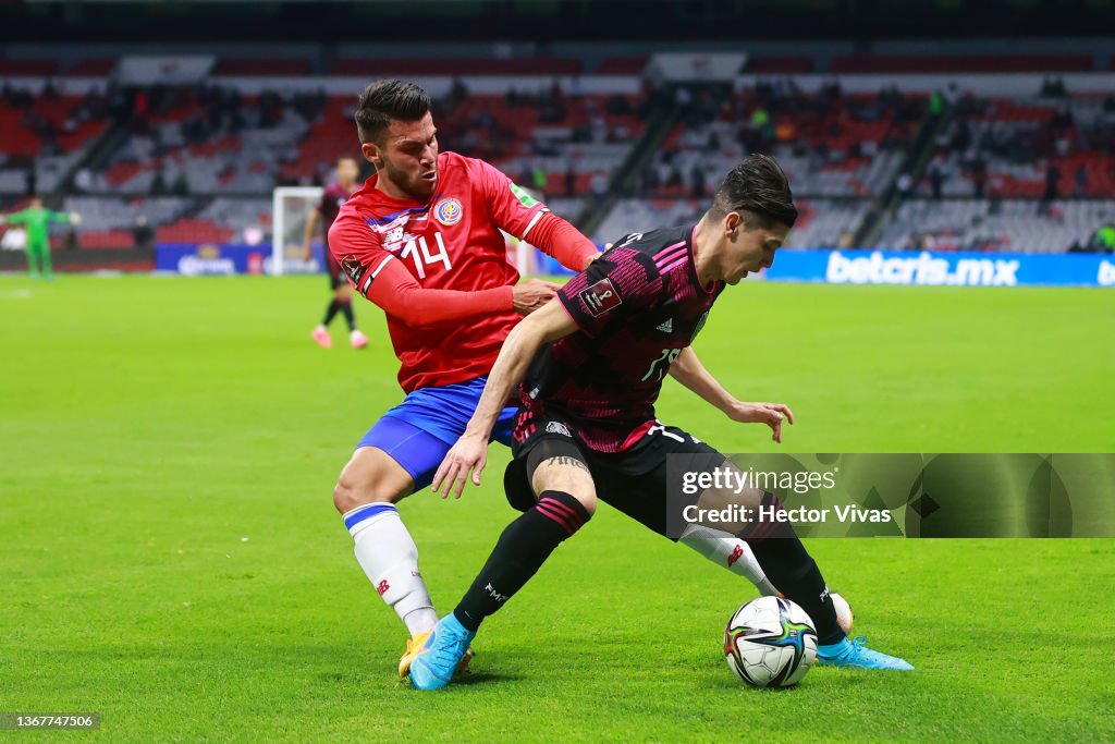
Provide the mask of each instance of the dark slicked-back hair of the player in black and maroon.
{"label": "dark slicked-back hair of the player in black and maroon", "polygon": [[774,223],[793,228],[797,221],[789,180],[769,155],[748,155],[728,171],[708,211],[717,219],[738,212],[748,229],[756,224],[770,228]]}

